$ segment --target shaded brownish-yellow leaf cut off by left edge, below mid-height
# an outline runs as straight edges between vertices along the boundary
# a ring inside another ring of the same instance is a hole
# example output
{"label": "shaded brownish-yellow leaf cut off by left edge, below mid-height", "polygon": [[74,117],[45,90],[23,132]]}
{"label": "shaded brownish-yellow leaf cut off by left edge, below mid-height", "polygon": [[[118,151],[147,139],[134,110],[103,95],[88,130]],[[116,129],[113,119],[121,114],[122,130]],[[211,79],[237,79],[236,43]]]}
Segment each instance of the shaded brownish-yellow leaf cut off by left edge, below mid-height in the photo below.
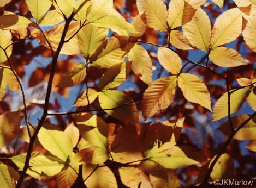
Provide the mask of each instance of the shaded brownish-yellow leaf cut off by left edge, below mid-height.
{"label": "shaded brownish-yellow leaf cut off by left edge, below mid-height", "polygon": [[0,115],[0,147],[9,145],[20,131],[20,112]]}

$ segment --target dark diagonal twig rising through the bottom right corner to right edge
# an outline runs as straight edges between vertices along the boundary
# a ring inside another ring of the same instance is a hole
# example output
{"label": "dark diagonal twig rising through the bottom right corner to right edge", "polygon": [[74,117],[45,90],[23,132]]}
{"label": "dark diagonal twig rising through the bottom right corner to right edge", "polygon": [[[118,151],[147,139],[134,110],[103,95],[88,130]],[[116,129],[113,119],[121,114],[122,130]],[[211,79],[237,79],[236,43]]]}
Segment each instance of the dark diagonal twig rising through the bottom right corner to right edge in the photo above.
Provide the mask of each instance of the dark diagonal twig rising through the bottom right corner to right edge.
{"label": "dark diagonal twig rising through the bottom right corner to right edge", "polygon": [[252,120],[253,117],[256,116],[256,112],[254,112],[250,117],[247,118],[247,120],[245,120],[237,129],[235,129],[231,135],[229,136],[227,142],[225,142],[224,146],[222,147],[222,149],[218,152],[216,158],[212,161],[210,167],[208,168],[205,177],[203,179],[203,181],[201,182],[199,187],[206,187],[207,185],[207,181],[210,178],[210,174],[213,170],[213,167],[215,166],[216,162],[218,161],[218,159],[221,157],[221,155],[225,152],[226,148],[228,147],[229,143],[231,142],[231,140],[233,139],[233,137],[235,136],[235,134],[241,129],[243,128],[246,123],[248,123],[250,120]]}

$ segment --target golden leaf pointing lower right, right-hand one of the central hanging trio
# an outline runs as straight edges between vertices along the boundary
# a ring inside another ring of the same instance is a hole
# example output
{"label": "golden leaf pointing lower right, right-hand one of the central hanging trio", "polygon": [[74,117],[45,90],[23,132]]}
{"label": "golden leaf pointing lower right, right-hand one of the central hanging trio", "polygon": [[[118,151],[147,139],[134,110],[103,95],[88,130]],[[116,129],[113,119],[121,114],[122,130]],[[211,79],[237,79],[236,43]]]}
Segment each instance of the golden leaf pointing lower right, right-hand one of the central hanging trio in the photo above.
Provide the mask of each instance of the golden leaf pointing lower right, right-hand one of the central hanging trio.
{"label": "golden leaf pointing lower right, right-hand one of the central hanging trio", "polygon": [[178,77],[178,87],[189,102],[198,103],[212,111],[210,93],[199,77],[194,74],[181,73]]}

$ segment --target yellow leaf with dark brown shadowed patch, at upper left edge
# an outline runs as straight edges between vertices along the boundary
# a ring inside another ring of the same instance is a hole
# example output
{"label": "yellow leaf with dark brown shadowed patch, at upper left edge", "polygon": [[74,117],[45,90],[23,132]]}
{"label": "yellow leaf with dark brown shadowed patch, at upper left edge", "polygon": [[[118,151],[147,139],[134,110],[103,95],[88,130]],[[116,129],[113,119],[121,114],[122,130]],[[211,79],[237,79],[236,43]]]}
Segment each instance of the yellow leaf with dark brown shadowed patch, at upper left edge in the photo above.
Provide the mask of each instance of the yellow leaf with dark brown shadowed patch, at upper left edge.
{"label": "yellow leaf with dark brown shadowed patch, at upper left edge", "polygon": [[21,39],[27,36],[27,27],[32,22],[26,17],[16,14],[0,16],[0,29],[11,29],[19,35]]}

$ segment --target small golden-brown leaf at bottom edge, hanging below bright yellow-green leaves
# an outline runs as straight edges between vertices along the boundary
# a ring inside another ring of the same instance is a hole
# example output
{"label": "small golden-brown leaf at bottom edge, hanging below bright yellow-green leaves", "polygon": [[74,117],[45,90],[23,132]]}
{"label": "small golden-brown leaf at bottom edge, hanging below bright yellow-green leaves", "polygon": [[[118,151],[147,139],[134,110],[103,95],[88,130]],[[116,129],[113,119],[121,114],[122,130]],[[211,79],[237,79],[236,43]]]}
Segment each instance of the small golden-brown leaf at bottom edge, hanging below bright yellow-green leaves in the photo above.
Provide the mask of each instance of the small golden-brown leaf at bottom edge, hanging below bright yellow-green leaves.
{"label": "small golden-brown leaf at bottom edge, hanging below bright yellow-green leaves", "polygon": [[79,166],[72,165],[71,167],[64,168],[60,173],[57,174],[56,180],[58,188],[69,188],[78,178]]}

